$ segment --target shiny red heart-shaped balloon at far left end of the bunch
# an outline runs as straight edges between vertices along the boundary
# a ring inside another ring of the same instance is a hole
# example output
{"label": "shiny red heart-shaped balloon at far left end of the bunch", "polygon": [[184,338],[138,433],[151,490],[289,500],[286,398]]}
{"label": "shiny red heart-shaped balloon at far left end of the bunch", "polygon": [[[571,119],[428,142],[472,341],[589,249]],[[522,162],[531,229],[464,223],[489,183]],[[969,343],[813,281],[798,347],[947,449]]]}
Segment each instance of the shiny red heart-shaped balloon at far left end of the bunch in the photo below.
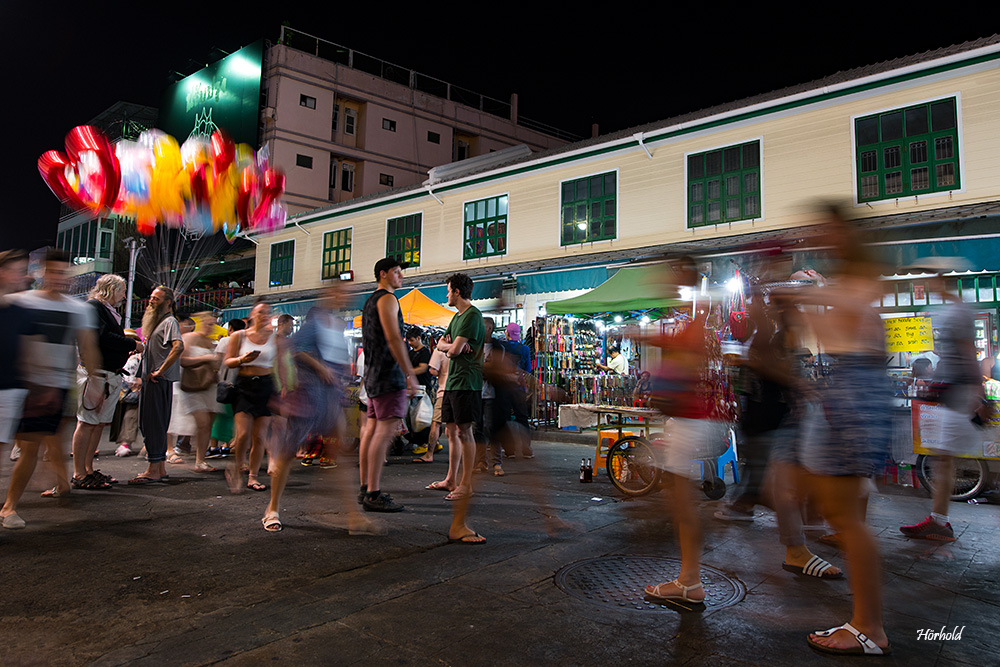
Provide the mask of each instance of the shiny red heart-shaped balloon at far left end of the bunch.
{"label": "shiny red heart-shaped balloon at far left end of the bunch", "polygon": [[[98,172],[88,183],[90,198],[80,195],[83,188],[74,188],[66,177],[67,169],[79,174],[78,163],[86,152],[96,158]],[[38,158],[38,172],[49,189],[68,205],[77,209],[100,211],[110,209],[118,198],[121,185],[121,165],[114,147],[91,125],[80,125],[66,135],[66,155],[58,151],[46,151]],[[92,188],[92,189],[91,189]]]}

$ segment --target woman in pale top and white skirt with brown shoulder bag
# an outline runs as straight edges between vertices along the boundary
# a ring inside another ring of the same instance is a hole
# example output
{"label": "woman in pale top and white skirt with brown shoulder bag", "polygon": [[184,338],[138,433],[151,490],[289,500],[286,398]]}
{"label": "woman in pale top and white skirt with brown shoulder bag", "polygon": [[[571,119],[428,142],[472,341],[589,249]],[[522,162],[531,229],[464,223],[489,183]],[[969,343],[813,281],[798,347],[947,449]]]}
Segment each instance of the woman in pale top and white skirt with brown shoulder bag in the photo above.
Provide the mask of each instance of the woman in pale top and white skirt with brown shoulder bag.
{"label": "woman in pale top and white skirt with brown shoulder bag", "polygon": [[[204,373],[210,378],[208,386],[199,391],[181,392],[181,409],[194,417],[195,422],[195,472],[214,472],[215,468],[205,462],[205,453],[208,451],[208,439],[212,430],[212,417],[218,410],[218,402],[215,400],[216,392],[216,359],[215,345],[208,337],[209,332],[215,328],[215,315],[211,312],[198,313],[194,316],[197,322],[195,330],[184,334],[184,354],[181,357],[182,380],[185,373],[200,369],[197,372]],[[181,389],[184,389],[184,382],[181,382]]]}

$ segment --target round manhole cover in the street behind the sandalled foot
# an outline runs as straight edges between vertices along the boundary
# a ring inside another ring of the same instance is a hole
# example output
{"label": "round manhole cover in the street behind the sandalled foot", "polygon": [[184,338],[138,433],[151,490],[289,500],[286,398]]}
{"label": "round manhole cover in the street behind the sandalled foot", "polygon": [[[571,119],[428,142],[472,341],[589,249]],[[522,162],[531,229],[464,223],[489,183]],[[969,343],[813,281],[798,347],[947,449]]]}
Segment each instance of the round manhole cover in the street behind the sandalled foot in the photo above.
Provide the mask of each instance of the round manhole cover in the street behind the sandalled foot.
{"label": "round manhole cover in the street behind the sandalled foot", "polygon": [[[637,611],[677,611],[677,606],[646,599],[648,584],[670,581],[680,572],[676,558],[656,556],[604,556],[567,565],[556,573],[556,586],[575,598]],[[701,566],[705,608],[736,604],[746,587],[724,572]]]}

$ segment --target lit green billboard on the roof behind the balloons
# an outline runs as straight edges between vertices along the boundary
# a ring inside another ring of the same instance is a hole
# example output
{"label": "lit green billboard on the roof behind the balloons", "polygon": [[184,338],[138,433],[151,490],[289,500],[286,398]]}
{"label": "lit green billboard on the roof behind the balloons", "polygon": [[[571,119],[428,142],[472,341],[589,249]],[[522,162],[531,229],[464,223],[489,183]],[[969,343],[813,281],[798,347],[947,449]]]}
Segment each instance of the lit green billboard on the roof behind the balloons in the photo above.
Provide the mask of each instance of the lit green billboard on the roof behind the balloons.
{"label": "lit green billboard on the roof behind the balloons", "polygon": [[157,127],[181,143],[222,129],[256,148],[263,59],[264,41],[257,40],[171,85]]}

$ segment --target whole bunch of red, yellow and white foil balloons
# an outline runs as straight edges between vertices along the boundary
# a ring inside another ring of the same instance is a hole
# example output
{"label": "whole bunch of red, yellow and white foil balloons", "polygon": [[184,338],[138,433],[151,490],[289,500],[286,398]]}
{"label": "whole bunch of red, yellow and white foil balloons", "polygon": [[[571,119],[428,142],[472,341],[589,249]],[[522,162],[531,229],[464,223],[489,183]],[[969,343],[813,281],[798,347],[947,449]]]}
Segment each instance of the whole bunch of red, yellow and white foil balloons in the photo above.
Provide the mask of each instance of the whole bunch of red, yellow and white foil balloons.
{"label": "whole bunch of red, yellow and white foil balloons", "polygon": [[225,133],[190,137],[183,145],[169,134],[146,130],[138,141],[112,146],[90,125],[66,135],[66,153],[47,151],[38,171],[68,206],[134,217],[143,234],[157,224],[192,231],[222,231],[232,241],[241,228],[280,229],[288,211],[281,201],[285,175]]}

